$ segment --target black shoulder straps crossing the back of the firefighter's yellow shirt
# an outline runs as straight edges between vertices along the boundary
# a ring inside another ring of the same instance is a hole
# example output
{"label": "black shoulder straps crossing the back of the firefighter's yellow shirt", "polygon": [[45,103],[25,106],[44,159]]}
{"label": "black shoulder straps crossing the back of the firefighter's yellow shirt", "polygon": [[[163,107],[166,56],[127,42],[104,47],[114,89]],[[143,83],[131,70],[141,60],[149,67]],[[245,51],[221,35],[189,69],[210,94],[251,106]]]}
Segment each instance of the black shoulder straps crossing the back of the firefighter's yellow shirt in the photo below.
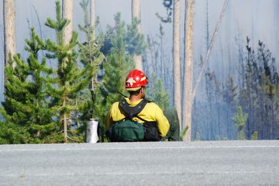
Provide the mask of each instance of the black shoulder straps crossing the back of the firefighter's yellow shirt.
{"label": "black shoulder straps crossing the back of the firefighter's yellow shirt", "polygon": [[138,103],[137,106],[129,106],[126,99],[121,99],[120,107],[122,108],[124,113],[126,113],[126,117],[128,117],[128,119],[132,120],[133,117],[137,116],[144,109],[144,106],[146,106],[146,103],[149,103],[149,102],[150,101],[148,101],[146,99],[142,99],[142,101],[140,101],[140,103]]}

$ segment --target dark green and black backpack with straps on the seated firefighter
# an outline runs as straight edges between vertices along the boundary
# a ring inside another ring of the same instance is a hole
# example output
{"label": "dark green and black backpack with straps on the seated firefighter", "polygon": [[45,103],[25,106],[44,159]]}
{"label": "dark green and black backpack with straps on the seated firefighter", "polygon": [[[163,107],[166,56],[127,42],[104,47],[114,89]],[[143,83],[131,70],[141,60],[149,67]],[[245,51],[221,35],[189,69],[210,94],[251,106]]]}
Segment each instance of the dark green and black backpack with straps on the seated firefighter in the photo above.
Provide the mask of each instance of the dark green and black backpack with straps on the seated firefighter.
{"label": "dark green and black backpack with straps on the seated firefighter", "polygon": [[[144,106],[146,106],[146,103],[149,102],[143,99],[137,106],[132,107],[129,106],[126,99],[120,101],[119,106],[126,117],[110,127],[108,133],[111,141],[160,141],[161,138],[156,122],[147,122],[138,116],[142,109],[144,109]],[[133,117],[139,117],[144,121],[144,124],[133,121]]]}

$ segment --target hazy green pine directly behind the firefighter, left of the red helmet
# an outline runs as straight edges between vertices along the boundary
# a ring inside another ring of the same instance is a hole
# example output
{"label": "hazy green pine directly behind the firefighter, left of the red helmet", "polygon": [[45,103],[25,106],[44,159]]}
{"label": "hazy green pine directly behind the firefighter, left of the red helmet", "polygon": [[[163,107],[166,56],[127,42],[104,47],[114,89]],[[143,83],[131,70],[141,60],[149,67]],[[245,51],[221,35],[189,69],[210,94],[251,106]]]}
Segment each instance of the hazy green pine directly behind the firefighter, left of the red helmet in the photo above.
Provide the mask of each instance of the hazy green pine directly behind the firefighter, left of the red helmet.
{"label": "hazy green pine directly behind the firefighter, left of the red helmet", "polygon": [[[119,92],[126,94],[125,79],[129,71],[135,68],[133,55],[128,51],[127,34],[125,22],[121,21],[120,14],[114,17],[115,26],[109,29],[109,35],[105,38],[103,51],[107,54],[107,62],[104,66],[103,82],[96,93],[98,103],[96,113],[103,124],[105,115],[115,101],[119,101],[122,97]],[[108,53],[110,51],[110,53]]]}

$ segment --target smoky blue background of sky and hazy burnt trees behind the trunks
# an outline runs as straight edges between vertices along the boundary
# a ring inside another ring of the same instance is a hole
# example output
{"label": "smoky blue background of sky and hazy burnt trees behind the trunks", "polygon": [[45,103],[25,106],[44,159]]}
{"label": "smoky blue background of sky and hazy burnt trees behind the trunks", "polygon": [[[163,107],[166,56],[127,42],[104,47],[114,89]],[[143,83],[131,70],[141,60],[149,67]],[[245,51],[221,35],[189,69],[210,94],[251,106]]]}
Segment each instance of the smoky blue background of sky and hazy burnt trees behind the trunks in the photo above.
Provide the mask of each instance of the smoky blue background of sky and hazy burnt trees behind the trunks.
{"label": "smoky blue background of sky and hazy burnt trees behind the trunks", "polygon": [[[44,24],[47,17],[52,19],[55,17],[55,1],[47,1],[47,4],[43,2],[43,0],[16,1],[17,52],[20,52],[22,59],[29,57],[29,53],[24,50],[26,44],[23,38],[30,38],[30,27],[35,27],[37,33],[39,27],[42,27],[41,38],[55,40],[55,31]],[[86,36],[78,28],[78,24],[83,22],[84,13],[79,5],[80,1],[74,3],[74,29],[78,32],[79,41],[84,41]],[[196,1],[195,78],[222,6],[223,1]],[[184,11],[183,7],[181,1],[181,11]],[[279,3],[276,0],[229,1],[209,65],[206,67],[206,73],[193,103],[193,140],[279,137],[278,60],[276,60],[279,53],[279,39],[276,34],[278,7]],[[96,33],[106,33],[107,24],[114,25],[116,12],[121,13],[121,20],[130,24],[130,10],[130,1],[96,1],[96,15],[100,16]],[[169,106],[173,106],[172,24],[160,22],[156,13],[166,15],[162,1],[141,1],[142,34],[147,46],[143,53],[144,71],[149,77],[155,72],[157,80],[162,79],[169,94]],[[0,26],[3,28],[3,24]],[[3,43],[3,34],[1,41]],[[3,49],[3,45],[0,48]],[[0,57],[3,59],[3,53],[0,53]],[[3,64],[1,65],[3,93]],[[153,87],[155,82],[154,79]],[[3,94],[1,100],[3,101]],[[243,127],[240,120],[244,120]]]}

